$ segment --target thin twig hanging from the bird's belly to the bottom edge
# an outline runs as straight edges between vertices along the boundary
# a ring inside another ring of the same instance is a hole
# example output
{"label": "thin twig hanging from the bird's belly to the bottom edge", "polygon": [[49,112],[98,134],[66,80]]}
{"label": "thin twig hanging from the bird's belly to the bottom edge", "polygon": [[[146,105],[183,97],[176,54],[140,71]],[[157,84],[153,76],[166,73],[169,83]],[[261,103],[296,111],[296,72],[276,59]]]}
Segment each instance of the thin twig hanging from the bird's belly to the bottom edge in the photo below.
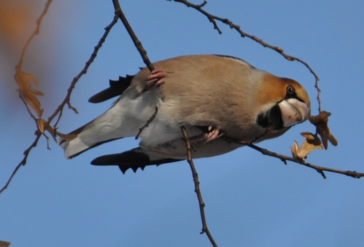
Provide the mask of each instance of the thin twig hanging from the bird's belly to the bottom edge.
{"label": "thin twig hanging from the bird's belly to the bottom edge", "polygon": [[211,244],[213,246],[217,246],[215,240],[213,239],[213,237],[212,237],[212,235],[211,235],[211,233],[210,233],[210,231],[209,231],[209,229],[207,227],[207,223],[206,223],[205,210],[204,210],[205,203],[202,200],[202,194],[201,194],[201,190],[200,190],[200,182],[198,180],[198,174],[196,172],[195,165],[194,165],[193,160],[192,160],[190,137],[187,134],[185,126],[181,126],[180,128],[181,128],[182,134],[183,134],[183,136],[185,138],[185,141],[186,141],[187,161],[190,164],[193,180],[194,180],[194,183],[195,183],[195,192],[197,194],[197,199],[199,201],[199,206],[200,206],[200,215],[201,215],[201,221],[202,221],[202,231],[200,233],[201,234],[206,233],[206,235],[207,235],[208,239],[210,240]]}

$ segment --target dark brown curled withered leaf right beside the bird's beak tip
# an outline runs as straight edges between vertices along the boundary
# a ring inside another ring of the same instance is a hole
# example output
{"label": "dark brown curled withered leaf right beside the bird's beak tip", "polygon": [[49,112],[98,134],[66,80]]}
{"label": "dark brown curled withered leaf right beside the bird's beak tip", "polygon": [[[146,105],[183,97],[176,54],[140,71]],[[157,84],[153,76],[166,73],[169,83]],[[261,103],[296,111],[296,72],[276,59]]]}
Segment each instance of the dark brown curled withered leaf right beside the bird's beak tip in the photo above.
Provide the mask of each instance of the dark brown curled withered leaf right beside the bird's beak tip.
{"label": "dark brown curled withered leaf right beside the bird's beak tip", "polygon": [[317,116],[309,116],[308,120],[311,124],[316,126],[316,132],[321,136],[321,140],[324,144],[325,149],[328,149],[328,140],[334,146],[337,146],[338,141],[331,133],[330,128],[328,126],[329,117],[331,116],[330,112],[322,111]]}

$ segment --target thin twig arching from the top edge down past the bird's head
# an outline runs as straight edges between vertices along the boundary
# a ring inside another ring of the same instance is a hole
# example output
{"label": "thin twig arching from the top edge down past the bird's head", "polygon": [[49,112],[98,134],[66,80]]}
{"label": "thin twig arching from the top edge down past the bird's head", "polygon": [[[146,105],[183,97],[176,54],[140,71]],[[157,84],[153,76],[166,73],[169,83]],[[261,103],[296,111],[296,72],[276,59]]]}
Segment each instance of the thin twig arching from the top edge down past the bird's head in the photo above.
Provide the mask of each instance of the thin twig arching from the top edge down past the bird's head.
{"label": "thin twig arching from the top edge down past the bird's head", "polygon": [[[167,1],[171,1],[171,0],[167,0]],[[289,60],[289,61],[297,61],[301,64],[303,64],[310,72],[311,74],[314,76],[315,78],[315,88],[317,89],[317,102],[319,104],[319,112],[321,112],[321,100],[320,100],[320,88],[319,88],[319,76],[317,76],[317,74],[313,71],[313,69],[308,65],[308,63],[306,63],[305,61],[303,61],[302,59],[299,59],[299,58],[296,58],[296,57],[293,57],[293,56],[290,56],[288,54],[286,54],[284,52],[284,50],[279,47],[279,46],[274,46],[274,45],[271,45],[269,43],[266,43],[264,42],[261,38],[258,38],[254,35],[251,35],[249,33],[246,33],[246,32],[243,32],[241,29],[240,29],[240,26],[239,25],[236,25],[234,24],[232,21],[230,21],[229,19],[227,18],[221,18],[221,17],[218,17],[218,16],[215,16],[215,15],[211,15],[210,13],[206,12],[205,10],[202,9],[202,7],[204,7],[207,2],[204,1],[202,4],[200,5],[195,5],[195,4],[192,4],[190,3],[189,1],[187,0],[173,0],[174,2],[178,2],[178,3],[182,3],[182,4],[185,4],[187,7],[191,7],[197,11],[199,11],[200,13],[202,13],[204,16],[207,17],[207,19],[213,24],[214,26],[214,29],[216,29],[218,31],[219,34],[222,33],[222,31],[220,30],[220,28],[218,27],[217,23],[216,23],[216,20],[217,21],[220,21],[226,25],[228,25],[230,28],[232,29],[235,29],[239,32],[239,34],[244,38],[244,37],[248,37],[258,43],[260,43],[261,45],[263,45],[264,47],[268,47],[276,52],[278,52],[279,54],[281,54],[285,59]]]}

